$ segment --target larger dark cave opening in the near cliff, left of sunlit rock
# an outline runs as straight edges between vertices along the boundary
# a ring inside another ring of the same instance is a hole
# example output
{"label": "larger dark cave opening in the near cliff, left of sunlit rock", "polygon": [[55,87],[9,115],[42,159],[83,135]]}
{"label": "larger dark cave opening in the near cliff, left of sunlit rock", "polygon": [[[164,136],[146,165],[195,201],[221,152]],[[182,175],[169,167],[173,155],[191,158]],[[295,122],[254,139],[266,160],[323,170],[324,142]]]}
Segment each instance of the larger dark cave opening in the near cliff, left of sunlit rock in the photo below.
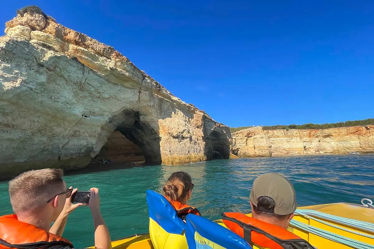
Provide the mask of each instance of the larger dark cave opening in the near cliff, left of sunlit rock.
{"label": "larger dark cave opening in the near cliff, left of sunlit rock", "polygon": [[110,124],[116,129],[93,161],[110,159],[113,162],[145,162],[161,164],[160,136],[148,122],[140,120],[139,113],[124,111]]}

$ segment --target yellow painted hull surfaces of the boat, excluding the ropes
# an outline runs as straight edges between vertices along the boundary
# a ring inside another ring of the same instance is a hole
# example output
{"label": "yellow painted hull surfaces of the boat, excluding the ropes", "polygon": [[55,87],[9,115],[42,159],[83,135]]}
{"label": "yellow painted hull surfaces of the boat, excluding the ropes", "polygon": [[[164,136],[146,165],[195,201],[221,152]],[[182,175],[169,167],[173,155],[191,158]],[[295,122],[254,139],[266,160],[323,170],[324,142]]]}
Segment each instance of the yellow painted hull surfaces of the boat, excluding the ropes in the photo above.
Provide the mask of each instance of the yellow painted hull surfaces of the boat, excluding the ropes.
{"label": "yellow painted hull surfaces of the boat, excluding the ropes", "polygon": [[[344,218],[350,218],[350,219],[374,223],[374,209],[365,208],[363,206],[350,204],[350,203],[332,203],[332,204],[324,204],[324,205],[305,206],[299,209],[313,209],[319,212],[324,212],[326,214],[337,215],[337,216],[344,217]],[[247,214],[247,215],[251,216],[251,214]],[[295,215],[294,220],[312,225],[314,227],[324,229],[326,231],[330,231],[332,233],[339,234],[341,236],[349,237],[351,239],[355,239],[361,242],[368,243],[370,245],[373,245],[373,248],[374,248],[374,239],[361,236],[361,235],[357,235],[354,233],[350,233],[348,231],[343,231],[338,228],[334,228],[329,225],[323,224],[321,222],[306,218],[302,215]],[[324,220],[324,221],[329,222],[334,225],[338,225],[340,227],[347,228],[352,231],[358,231],[361,233],[374,236],[374,233],[370,231],[359,230],[356,227],[342,225],[337,222],[332,222],[329,220]],[[215,222],[224,226],[222,220],[217,220]],[[312,244],[318,249],[331,249],[331,248],[352,249],[352,247],[349,247],[349,246],[346,246],[346,245],[343,245],[337,242],[333,242],[331,240],[328,240],[323,237],[304,231],[300,228],[293,227],[292,225],[288,227],[288,230],[296,234],[297,236],[307,240],[310,244]],[[153,249],[149,234],[113,241],[112,247],[113,249]],[[254,245],[254,248],[263,249],[256,245]]]}

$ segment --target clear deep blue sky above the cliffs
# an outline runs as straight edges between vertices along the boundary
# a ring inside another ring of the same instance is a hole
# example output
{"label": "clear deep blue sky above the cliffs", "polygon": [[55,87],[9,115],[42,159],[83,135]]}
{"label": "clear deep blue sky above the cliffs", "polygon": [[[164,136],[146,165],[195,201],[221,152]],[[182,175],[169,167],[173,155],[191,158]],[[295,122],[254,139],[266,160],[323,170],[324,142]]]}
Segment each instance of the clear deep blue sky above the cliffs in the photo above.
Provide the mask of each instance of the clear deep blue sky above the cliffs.
{"label": "clear deep blue sky above the cliffs", "polygon": [[373,0],[4,0],[0,23],[30,4],[231,127],[374,118]]}

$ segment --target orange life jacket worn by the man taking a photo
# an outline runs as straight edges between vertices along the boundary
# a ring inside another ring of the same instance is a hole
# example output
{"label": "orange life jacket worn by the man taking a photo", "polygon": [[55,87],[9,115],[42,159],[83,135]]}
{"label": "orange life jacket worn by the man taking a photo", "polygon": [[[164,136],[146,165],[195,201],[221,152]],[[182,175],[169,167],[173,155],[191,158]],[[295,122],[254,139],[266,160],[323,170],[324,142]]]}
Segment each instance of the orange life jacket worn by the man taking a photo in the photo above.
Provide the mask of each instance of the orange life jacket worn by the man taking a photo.
{"label": "orange life jacket worn by the man taking a photo", "polygon": [[19,221],[15,214],[0,217],[0,249],[47,249],[57,245],[73,248],[69,240]]}

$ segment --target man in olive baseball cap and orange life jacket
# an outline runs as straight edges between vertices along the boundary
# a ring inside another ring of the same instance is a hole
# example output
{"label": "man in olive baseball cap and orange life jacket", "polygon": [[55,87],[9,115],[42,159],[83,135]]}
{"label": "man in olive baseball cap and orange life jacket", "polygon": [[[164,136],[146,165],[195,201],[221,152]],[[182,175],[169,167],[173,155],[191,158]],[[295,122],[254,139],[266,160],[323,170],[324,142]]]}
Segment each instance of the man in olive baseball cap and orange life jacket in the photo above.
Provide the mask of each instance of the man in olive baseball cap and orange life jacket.
{"label": "man in olive baseball cap and orange life jacket", "polygon": [[294,186],[285,177],[274,173],[260,175],[253,182],[249,200],[252,217],[225,212],[222,221],[227,228],[260,248],[314,249],[287,230],[297,203]]}

